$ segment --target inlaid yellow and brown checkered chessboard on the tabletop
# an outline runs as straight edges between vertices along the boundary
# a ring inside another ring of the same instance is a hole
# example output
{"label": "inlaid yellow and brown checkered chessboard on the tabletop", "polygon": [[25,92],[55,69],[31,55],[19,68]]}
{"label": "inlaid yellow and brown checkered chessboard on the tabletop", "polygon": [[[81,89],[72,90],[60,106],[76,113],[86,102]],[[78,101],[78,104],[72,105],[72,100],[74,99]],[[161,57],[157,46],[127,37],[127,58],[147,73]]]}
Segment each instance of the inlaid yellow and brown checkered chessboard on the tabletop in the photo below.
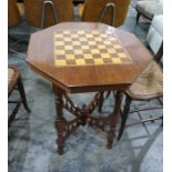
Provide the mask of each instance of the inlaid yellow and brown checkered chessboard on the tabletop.
{"label": "inlaid yellow and brown checkered chessboard on the tabletop", "polygon": [[53,33],[53,39],[54,64],[57,67],[132,62],[114,33],[98,30],[60,30]]}

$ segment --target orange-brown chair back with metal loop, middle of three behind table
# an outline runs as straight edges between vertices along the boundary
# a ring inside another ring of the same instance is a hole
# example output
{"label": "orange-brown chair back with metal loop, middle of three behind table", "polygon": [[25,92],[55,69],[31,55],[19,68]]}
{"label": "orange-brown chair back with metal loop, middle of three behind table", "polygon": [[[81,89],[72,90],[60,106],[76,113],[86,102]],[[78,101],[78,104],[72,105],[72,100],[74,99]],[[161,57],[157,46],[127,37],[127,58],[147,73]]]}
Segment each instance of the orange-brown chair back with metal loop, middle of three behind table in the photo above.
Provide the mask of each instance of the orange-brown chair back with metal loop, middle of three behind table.
{"label": "orange-brown chair back with metal loop, middle of three behind table", "polygon": [[73,21],[72,0],[24,0],[27,22],[37,28]]}

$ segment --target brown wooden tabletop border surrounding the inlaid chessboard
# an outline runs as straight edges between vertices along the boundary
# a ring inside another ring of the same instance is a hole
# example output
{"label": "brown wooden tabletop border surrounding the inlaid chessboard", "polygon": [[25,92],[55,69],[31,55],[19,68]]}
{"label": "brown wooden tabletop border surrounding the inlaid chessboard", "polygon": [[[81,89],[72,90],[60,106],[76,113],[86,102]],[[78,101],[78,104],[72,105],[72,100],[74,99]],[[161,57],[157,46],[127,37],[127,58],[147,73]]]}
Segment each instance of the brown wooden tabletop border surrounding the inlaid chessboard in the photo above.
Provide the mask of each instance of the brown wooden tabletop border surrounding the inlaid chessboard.
{"label": "brown wooden tabletop border surrounding the inlaid chessboard", "polygon": [[[130,54],[131,63],[57,68],[53,61],[53,32],[59,30],[111,30]],[[152,57],[133,33],[102,23],[63,22],[36,32],[30,38],[27,61],[30,67],[68,92],[125,90],[150,63]]]}

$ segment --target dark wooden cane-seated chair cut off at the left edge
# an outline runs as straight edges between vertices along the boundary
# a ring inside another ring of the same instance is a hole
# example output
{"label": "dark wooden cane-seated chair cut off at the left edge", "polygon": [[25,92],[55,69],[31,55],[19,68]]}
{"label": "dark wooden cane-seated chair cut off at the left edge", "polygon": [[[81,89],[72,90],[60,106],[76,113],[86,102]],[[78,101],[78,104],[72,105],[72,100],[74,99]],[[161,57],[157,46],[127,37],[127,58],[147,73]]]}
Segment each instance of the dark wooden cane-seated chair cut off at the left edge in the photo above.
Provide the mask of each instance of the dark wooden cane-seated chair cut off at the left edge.
{"label": "dark wooden cane-seated chair cut off at the left edge", "polygon": [[8,127],[10,127],[12,121],[14,120],[21,103],[23,104],[24,109],[28,112],[30,112],[19,70],[17,68],[8,68],[8,98],[10,98],[14,89],[19,91],[20,99],[18,101],[8,101],[8,103],[16,104],[14,109],[12,110],[12,113],[9,115]]}

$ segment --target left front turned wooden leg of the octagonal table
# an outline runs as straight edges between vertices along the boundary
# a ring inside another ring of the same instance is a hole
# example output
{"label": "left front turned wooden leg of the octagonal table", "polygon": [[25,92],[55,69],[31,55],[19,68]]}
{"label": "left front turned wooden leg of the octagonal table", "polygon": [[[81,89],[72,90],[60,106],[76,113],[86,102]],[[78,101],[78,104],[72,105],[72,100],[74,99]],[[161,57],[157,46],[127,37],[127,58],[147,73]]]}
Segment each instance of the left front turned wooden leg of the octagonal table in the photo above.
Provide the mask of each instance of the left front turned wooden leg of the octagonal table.
{"label": "left front turned wooden leg of the octagonal table", "polygon": [[62,105],[63,105],[62,90],[53,85],[53,91],[54,91],[54,97],[55,97],[55,110],[57,110],[57,120],[55,120],[54,125],[58,132],[58,139],[57,139],[58,153],[62,154],[63,145],[64,145],[64,136],[63,136],[64,119],[63,119],[63,113],[62,113]]}

